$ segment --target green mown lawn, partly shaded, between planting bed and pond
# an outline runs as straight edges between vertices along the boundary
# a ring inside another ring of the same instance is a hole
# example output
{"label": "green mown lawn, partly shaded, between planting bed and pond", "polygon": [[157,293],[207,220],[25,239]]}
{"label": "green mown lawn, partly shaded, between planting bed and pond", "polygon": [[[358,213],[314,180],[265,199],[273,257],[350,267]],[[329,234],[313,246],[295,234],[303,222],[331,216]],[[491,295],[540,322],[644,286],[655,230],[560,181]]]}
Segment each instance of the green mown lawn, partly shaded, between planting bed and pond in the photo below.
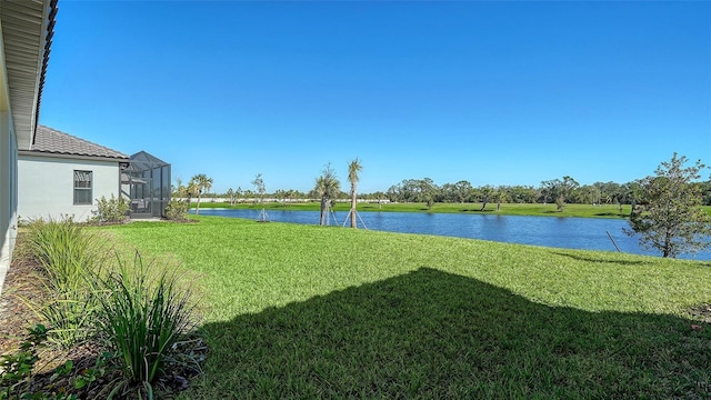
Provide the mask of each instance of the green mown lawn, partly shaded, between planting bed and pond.
{"label": "green mown lawn, partly shaded, between planting bed and pond", "polygon": [[711,394],[709,262],[199,220],[103,228],[203,296],[186,399]]}

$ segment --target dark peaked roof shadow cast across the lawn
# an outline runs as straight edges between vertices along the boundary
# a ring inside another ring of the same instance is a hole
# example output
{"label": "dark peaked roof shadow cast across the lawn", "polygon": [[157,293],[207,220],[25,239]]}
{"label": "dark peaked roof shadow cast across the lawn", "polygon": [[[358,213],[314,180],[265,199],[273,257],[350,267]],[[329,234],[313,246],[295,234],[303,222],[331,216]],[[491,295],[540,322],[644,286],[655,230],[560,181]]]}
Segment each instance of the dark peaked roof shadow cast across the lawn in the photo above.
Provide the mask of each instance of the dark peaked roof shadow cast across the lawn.
{"label": "dark peaked roof shadow cast across the lawn", "polygon": [[551,308],[421,268],[207,324],[188,397],[703,398],[711,327],[691,323]]}

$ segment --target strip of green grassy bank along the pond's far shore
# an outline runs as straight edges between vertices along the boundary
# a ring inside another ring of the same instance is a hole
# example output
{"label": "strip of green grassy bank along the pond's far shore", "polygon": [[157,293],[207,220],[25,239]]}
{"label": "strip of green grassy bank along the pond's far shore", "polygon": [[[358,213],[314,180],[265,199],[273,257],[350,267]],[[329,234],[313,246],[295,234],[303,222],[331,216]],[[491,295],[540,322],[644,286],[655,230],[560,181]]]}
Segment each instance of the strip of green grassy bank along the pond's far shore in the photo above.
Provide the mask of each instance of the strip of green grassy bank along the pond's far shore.
{"label": "strip of green grassy bank along the pond's far shore", "polygon": [[[194,203],[193,203],[194,208]],[[200,208],[234,208],[234,209],[261,209],[254,203],[200,203]],[[264,203],[268,210],[293,210],[293,211],[318,211],[319,202],[307,203]],[[333,207],[336,211],[350,210],[350,203],[338,202]],[[502,203],[497,210],[495,203],[489,203],[481,210],[481,203],[435,203],[430,209],[424,203],[359,203],[359,211],[382,211],[382,212],[442,212],[442,213],[498,213],[502,216],[538,216],[538,217],[584,217],[584,218],[628,218],[630,206],[622,206],[622,211],[618,206],[590,206],[590,204],[568,204],[564,211],[559,211],[555,204],[507,204]],[[711,208],[709,208],[711,212]]]}

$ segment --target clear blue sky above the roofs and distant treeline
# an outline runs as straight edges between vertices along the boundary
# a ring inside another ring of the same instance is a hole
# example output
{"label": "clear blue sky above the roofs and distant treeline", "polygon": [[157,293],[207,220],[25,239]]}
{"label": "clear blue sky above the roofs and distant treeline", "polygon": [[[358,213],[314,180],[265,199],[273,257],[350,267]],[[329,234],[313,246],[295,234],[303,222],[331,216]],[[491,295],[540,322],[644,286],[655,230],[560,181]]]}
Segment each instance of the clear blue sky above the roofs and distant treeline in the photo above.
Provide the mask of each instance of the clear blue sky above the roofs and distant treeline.
{"label": "clear blue sky above the roofs and distant treeline", "polygon": [[[40,123],[213,191],[711,164],[711,2],[61,0]],[[708,177],[704,177],[708,178]]]}

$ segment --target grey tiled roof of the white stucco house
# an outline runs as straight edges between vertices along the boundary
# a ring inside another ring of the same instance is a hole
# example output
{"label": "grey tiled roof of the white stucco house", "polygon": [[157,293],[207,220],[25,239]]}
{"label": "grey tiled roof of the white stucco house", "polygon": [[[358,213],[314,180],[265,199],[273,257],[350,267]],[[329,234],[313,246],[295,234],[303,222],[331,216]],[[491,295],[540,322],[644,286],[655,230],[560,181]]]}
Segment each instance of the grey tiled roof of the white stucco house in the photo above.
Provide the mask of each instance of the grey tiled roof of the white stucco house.
{"label": "grey tiled roof of the white stucco house", "polygon": [[56,129],[48,128],[41,124],[37,127],[34,144],[32,144],[31,151],[112,159],[129,158],[120,151],[92,143],[88,140],[83,140],[69,133],[60,132]]}

